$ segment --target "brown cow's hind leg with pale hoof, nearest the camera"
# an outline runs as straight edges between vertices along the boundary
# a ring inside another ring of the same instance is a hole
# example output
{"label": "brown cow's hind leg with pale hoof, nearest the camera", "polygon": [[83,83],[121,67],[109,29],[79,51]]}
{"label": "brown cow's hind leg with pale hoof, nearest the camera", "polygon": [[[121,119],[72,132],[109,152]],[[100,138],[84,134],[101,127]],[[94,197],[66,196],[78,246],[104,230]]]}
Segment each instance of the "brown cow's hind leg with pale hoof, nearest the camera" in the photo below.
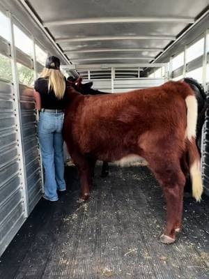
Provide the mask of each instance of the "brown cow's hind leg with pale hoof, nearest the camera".
{"label": "brown cow's hind leg with pale hoof, nearest the camera", "polygon": [[185,174],[180,167],[180,160],[167,159],[166,156],[151,160],[150,169],[162,185],[167,203],[167,225],[160,240],[167,244],[173,243],[182,223]]}

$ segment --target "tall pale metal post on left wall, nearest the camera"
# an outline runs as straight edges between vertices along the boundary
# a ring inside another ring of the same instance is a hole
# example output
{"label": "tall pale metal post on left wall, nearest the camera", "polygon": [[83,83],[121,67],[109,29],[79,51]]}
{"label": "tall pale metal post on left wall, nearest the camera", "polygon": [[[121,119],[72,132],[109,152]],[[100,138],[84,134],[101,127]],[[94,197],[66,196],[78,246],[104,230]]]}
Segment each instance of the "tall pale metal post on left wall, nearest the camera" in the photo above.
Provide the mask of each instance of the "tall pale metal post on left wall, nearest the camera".
{"label": "tall pale metal post on left wall, nearest the camera", "polygon": [[12,62],[12,72],[13,72],[13,87],[14,87],[14,97],[15,97],[15,115],[16,115],[16,126],[17,126],[17,141],[19,147],[19,156],[20,156],[20,181],[22,185],[23,201],[24,201],[24,217],[29,216],[29,199],[27,193],[27,184],[26,184],[26,169],[24,164],[24,155],[23,155],[23,146],[22,146],[22,121],[21,121],[21,111],[20,111],[20,89],[19,89],[19,80],[17,73],[17,61],[16,61],[16,50],[15,50],[15,36],[13,29],[13,15],[8,12],[8,18],[10,23],[10,48],[11,48],[11,62]]}

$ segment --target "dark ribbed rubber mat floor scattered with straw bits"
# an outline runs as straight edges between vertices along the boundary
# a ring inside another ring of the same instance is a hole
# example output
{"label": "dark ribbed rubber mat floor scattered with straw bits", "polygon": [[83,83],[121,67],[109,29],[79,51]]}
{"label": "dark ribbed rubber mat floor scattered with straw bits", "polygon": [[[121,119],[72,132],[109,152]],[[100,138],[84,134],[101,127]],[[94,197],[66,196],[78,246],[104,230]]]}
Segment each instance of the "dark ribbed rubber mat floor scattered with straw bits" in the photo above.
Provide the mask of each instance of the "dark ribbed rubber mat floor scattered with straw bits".
{"label": "dark ribbed rubber mat floor scattered with straw bits", "polygon": [[160,243],[162,189],[147,167],[95,169],[91,199],[77,203],[79,178],[66,167],[68,190],[40,202],[3,253],[1,279],[209,278],[209,197],[185,195],[183,232]]}

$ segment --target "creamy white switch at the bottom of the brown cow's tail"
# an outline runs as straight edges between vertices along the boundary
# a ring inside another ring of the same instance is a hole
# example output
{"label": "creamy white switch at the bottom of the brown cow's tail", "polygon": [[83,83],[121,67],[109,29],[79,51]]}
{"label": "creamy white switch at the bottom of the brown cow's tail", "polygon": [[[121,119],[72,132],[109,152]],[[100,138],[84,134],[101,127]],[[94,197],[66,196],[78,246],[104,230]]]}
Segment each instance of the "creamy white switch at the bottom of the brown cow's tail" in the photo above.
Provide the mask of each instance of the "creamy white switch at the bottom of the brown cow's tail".
{"label": "creamy white switch at the bottom of the brown cow's tail", "polygon": [[196,199],[196,202],[201,201],[201,195],[203,193],[203,181],[201,178],[200,163],[194,161],[192,167],[189,169],[192,177],[192,196]]}

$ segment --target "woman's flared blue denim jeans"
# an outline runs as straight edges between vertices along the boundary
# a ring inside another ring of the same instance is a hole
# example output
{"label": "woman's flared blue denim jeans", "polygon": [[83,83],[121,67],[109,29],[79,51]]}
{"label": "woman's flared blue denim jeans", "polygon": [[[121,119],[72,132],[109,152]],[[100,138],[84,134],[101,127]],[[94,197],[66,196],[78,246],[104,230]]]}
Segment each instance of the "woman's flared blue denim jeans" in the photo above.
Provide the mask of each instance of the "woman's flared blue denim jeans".
{"label": "woman's flared blue denim jeans", "polygon": [[45,169],[45,198],[58,200],[56,190],[66,190],[63,158],[63,112],[40,112],[38,139]]}

